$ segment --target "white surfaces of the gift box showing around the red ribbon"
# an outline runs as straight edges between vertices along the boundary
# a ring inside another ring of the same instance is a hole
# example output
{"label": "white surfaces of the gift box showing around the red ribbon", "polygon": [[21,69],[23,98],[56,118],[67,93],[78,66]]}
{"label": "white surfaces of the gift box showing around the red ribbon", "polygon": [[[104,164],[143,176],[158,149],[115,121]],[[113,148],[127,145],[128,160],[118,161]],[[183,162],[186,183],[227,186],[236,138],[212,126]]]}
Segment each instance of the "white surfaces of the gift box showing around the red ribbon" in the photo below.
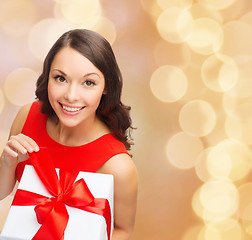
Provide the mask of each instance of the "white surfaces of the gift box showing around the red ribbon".
{"label": "white surfaces of the gift box showing around the red ribbon", "polygon": [[[58,170],[57,170],[58,172]],[[79,172],[94,198],[106,198],[111,209],[111,234],[113,231],[113,175]],[[32,166],[26,165],[18,189],[52,197]],[[34,211],[35,206],[11,206],[1,232],[1,240],[30,240],[40,228]],[[64,232],[64,240],[107,240],[107,225],[103,216],[67,206],[69,221]]]}

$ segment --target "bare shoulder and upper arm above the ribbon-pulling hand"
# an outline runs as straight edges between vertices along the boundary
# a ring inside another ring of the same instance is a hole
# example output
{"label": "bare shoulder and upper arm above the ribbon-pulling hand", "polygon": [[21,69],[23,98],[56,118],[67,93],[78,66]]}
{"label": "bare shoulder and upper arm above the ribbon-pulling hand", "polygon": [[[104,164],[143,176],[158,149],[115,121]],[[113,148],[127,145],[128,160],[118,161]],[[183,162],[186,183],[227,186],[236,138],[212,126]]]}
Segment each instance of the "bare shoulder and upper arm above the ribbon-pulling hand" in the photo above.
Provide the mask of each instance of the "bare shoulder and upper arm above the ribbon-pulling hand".
{"label": "bare shoulder and upper arm above the ribbon-pulling hand", "polygon": [[10,136],[11,135],[17,135],[19,133],[21,133],[25,120],[27,118],[27,115],[30,111],[31,108],[31,103],[30,104],[26,104],[23,107],[20,108],[19,112],[17,113],[12,126],[11,126],[11,130],[10,130]]}

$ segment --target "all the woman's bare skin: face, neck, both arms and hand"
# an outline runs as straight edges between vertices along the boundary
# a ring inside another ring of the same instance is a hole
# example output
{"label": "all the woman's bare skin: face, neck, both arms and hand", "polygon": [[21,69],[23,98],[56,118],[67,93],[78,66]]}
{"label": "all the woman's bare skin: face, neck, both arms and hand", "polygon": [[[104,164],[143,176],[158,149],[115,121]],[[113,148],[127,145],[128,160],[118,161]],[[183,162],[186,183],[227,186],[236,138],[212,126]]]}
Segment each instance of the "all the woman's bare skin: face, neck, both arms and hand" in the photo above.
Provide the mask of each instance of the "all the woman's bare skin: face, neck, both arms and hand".
{"label": "all the woman's bare skin: face, neck, both arms and hand", "polygon": [[[57,115],[47,120],[49,136],[63,145],[80,146],[109,133],[106,125],[96,116],[103,94],[106,91],[102,72],[74,49],[61,49],[56,54],[49,73],[48,96]],[[0,199],[13,190],[18,162],[25,161],[29,153],[39,151],[37,143],[21,133],[30,107],[31,104],[22,107],[17,114],[1,155]],[[75,108],[75,111],[69,111],[69,107]],[[119,154],[108,160],[98,172],[114,175],[112,240],[130,239],[137,202],[136,167],[127,154]]]}

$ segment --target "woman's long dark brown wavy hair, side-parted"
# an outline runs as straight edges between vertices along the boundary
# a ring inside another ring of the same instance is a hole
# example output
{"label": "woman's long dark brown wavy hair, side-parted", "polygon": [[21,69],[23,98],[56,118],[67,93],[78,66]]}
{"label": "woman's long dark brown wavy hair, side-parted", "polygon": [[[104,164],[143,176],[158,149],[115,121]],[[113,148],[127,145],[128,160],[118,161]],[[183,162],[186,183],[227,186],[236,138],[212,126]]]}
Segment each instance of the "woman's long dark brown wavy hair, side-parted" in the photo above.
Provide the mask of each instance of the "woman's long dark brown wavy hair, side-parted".
{"label": "woman's long dark brown wavy hair, side-parted", "polygon": [[71,30],[64,33],[52,46],[36,83],[35,94],[42,102],[42,113],[56,115],[48,99],[48,78],[55,55],[64,47],[75,49],[103,73],[106,94],[102,95],[96,114],[129,150],[132,145],[132,121],[129,115],[131,108],[121,102],[122,75],[109,42],[96,32],[87,29]]}

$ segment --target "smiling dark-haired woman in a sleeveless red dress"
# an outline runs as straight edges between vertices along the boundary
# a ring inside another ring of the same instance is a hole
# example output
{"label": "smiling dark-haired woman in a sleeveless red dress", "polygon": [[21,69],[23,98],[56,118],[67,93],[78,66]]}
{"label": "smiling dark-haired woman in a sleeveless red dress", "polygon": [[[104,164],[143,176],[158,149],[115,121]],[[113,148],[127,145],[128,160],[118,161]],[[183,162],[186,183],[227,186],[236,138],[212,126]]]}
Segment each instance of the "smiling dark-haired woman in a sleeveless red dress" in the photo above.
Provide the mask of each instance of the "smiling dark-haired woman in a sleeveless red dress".
{"label": "smiling dark-haired woman in a sleeveless red dress", "polygon": [[45,59],[38,101],[22,107],[11,127],[1,155],[0,199],[20,180],[29,153],[46,149],[55,167],[114,175],[112,239],[130,239],[137,171],[127,152],[131,119],[121,90],[120,70],[103,37],[80,29],[63,34]]}

